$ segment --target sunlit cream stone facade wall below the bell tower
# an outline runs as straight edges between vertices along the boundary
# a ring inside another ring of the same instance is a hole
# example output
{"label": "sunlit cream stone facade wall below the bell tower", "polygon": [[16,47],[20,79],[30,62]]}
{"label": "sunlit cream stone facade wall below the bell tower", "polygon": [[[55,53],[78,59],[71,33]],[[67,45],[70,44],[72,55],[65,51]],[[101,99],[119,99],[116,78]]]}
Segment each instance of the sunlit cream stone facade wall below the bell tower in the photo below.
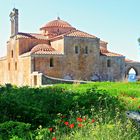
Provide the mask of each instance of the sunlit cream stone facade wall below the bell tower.
{"label": "sunlit cream stone facade wall below the bell tower", "polygon": [[19,40],[10,38],[7,43],[7,56],[0,61],[1,83],[13,85],[30,85],[31,60],[30,57],[19,56]]}

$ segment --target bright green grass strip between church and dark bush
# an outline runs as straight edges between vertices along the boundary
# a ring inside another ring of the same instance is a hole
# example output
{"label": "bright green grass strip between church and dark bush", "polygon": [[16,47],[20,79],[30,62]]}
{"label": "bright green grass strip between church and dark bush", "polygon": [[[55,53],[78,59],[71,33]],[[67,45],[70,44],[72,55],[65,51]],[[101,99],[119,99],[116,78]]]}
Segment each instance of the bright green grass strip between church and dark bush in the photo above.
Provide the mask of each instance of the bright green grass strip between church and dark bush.
{"label": "bright green grass strip between church and dark bush", "polygon": [[94,82],[90,84],[60,84],[57,85],[71,90],[85,91],[86,89],[97,86],[98,89],[106,90],[112,96],[127,94],[140,97],[140,82]]}

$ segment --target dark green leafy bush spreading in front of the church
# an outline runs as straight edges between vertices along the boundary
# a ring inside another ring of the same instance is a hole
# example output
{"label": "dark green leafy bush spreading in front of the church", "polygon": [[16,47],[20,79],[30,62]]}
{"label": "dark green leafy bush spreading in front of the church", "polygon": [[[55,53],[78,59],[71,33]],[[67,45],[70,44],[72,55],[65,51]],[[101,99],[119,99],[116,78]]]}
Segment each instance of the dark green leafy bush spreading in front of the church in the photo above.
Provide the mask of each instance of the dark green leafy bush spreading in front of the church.
{"label": "dark green leafy bush spreading in front of the church", "polygon": [[[113,108],[123,108],[116,97],[108,95],[104,90],[97,90],[96,87],[74,91],[57,86],[8,86],[2,87],[0,91],[0,123],[13,120],[30,123],[32,128],[55,124],[58,113],[69,115],[69,112],[73,112],[76,115],[78,110],[81,115],[86,115],[94,107],[97,113],[102,108],[111,114]],[[115,114],[112,115],[114,117]]]}

